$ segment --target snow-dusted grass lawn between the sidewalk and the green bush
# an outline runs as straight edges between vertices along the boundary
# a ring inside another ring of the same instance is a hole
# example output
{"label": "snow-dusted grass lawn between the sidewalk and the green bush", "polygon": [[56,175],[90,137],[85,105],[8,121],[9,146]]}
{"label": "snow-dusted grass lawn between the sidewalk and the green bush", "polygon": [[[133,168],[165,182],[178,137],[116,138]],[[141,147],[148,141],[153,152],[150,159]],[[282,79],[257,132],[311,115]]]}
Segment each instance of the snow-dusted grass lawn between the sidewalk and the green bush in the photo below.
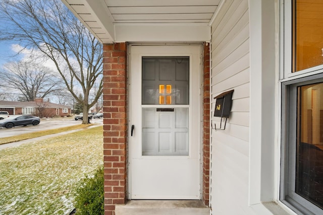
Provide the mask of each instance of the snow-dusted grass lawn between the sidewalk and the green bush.
{"label": "snow-dusted grass lawn between the sidewalk and the green bush", "polygon": [[0,150],[0,214],[69,214],[84,175],[103,164],[102,126]]}

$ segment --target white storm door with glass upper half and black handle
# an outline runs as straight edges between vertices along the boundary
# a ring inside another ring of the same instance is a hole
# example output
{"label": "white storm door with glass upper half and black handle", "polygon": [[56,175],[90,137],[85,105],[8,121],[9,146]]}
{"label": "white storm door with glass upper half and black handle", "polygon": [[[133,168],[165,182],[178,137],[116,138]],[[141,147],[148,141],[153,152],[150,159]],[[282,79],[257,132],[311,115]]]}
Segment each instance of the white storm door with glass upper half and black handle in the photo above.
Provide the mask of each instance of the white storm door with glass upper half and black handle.
{"label": "white storm door with glass upper half and black handle", "polygon": [[199,56],[199,46],[131,47],[131,199],[200,199]]}

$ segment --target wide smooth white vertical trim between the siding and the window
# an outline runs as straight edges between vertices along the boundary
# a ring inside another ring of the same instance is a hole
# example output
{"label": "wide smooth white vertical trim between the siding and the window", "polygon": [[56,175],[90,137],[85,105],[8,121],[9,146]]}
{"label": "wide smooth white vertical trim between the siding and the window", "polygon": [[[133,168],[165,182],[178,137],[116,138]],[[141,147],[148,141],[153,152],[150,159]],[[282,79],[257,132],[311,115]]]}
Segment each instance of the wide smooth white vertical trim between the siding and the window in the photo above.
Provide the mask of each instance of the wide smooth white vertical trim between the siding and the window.
{"label": "wide smooth white vertical trim between the siding and the window", "polygon": [[[249,205],[256,214],[296,214],[280,193],[280,15],[283,1],[249,0]],[[286,47],[285,47],[286,48]],[[283,52],[281,52],[283,53]]]}

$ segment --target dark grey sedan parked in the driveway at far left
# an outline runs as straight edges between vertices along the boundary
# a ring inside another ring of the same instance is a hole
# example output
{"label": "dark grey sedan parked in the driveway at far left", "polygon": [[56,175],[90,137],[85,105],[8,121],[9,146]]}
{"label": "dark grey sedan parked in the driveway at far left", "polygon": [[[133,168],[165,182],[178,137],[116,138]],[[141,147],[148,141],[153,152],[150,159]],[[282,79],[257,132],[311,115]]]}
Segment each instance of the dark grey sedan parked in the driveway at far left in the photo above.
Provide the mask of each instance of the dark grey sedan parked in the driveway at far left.
{"label": "dark grey sedan parked in the driveway at far left", "polygon": [[16,115],[0,120],[0,127],[12,128],[19,125],[38,125],[40,118],[31,115]]}

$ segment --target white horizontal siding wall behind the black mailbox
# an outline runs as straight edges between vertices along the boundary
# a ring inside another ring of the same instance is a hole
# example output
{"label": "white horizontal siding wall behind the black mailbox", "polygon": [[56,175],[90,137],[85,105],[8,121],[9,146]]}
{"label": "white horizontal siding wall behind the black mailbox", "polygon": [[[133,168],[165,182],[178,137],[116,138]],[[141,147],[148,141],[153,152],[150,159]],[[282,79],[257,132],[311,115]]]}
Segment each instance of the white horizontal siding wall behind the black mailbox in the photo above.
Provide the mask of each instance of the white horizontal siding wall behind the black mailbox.
{"label": "white horizontal siding wall behind the black mailbox", "polygon": [[[211,123],[217,95],[235,90],[225,130],[211,131],[212,214],[254,214],[249,183],[249,12],[248,1],[226,1],[211,25]],[[234,206],[232,203],[234,202]]]}

